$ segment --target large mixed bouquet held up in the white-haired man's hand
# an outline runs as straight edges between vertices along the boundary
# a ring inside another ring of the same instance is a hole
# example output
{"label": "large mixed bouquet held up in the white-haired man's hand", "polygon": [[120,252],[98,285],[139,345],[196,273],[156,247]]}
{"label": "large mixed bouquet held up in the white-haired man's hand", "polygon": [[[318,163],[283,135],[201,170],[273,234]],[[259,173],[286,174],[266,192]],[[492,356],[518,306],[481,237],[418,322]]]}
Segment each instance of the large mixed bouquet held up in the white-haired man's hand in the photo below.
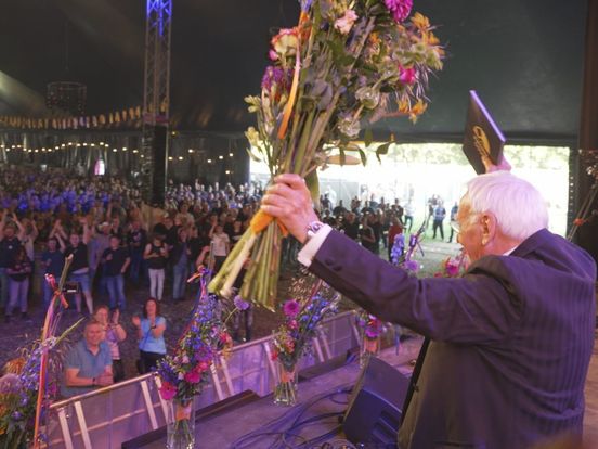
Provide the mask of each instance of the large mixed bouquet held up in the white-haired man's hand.
{"label": "large mixed bouquet held up in the white-haired man's hand", "polygon": [[[413,0],[301,0],[295,28],[272,38],[261,92],[247,97],[257,128],[247,139],[252,158],[264,161],[272,178],[298,174],[318,198],[316,168],[337,147],[364,151],[352,143],[362,125],[389,115],[413,121],[426,111],[430,74],[442,68],[443,48]],[[372,131],[365,132],[367,145]],[[388,152],[380,144],[376,154]],[[240,295],[274,310],[281,241],[286,230],[259,211],[235,245],[210,290],[232,295],[233,283],[250,256]]]}

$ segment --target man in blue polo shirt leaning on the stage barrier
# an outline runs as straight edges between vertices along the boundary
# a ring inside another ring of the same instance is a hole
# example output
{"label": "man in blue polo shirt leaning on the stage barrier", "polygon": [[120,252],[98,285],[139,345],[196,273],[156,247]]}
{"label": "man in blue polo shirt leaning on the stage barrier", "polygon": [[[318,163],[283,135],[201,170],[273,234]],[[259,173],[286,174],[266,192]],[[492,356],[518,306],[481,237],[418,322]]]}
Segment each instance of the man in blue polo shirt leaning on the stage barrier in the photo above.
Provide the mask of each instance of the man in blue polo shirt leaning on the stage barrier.
{"label": "man in blue polo shirt leaning on the stage barrier", "polygon": [[90,320],[86,324],[83,338],[66,356],[61,393],[69,398],[110,384],[112,356],[104,342],[104,329],[100,322]]}

